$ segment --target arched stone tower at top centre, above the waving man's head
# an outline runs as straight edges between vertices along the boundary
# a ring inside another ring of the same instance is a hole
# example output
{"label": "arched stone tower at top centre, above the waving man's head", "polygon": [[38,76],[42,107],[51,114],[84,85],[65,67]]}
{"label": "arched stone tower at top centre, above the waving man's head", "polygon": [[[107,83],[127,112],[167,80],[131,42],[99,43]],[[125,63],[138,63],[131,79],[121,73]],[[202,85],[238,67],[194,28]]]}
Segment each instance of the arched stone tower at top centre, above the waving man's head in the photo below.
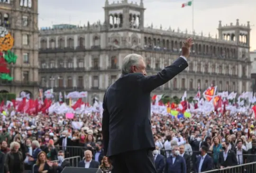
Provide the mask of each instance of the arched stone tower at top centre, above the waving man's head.
{"label": "arched stone tower at top centre, above the waving man's head", "polygon": [[144,4],[122,0],[121,2],[105,1],[105,25],[108,30],[132,29],[143,30],[144,27]]}

